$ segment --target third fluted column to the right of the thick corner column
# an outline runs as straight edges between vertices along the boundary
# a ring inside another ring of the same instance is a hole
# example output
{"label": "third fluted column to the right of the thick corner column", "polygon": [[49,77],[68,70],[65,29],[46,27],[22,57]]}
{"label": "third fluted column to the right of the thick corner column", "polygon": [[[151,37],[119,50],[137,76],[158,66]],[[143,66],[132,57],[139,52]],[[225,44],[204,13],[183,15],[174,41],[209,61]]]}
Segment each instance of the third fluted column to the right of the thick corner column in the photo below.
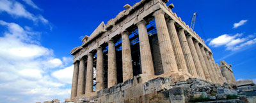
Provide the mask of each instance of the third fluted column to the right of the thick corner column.
{"label": "third fluted column to the right of the thick corner column", "polygon": [[202,69],[202,65],[201,65],[200,60],[198,58],[198,54],[196,52],[196,48],[195,48],[195,45],[193,43],[192,36],[191,35],[187,36],[187,39],[188,39],[188,45],[189,45],[189,48],[191,50],[193,60],[195,62],[196,72],[197,72],[198,76],[200,76],[201,79],[205,79],[204,70]]}

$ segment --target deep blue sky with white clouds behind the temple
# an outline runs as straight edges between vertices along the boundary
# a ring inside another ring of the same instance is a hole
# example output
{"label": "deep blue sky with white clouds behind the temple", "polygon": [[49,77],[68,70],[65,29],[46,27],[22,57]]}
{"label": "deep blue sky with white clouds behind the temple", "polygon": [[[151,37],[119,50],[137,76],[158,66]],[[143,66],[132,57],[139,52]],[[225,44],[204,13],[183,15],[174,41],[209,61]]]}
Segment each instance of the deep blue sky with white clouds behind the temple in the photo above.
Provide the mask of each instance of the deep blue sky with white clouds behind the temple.
{"label": "deep blue sky with white clouds behind the temple", "polygon": [[[70,97],[72,48],[81,45],[129,1],[0,0],[0,102],[43,102]],[[205,40],[218,64],[236,79],[256,81],[256,1],[172,0],[173,12]]]}

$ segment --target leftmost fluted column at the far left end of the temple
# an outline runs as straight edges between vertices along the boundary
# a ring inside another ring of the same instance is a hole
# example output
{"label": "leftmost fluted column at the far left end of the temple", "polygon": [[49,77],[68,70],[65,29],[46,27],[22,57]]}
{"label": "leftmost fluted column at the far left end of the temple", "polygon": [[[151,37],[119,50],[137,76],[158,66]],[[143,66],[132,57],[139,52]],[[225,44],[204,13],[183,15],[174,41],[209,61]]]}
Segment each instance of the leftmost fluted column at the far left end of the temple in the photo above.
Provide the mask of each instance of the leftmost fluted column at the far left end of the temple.
{"label": "leftmost fluted column at the far left end of the temple", "polygon": [[75,62],[74,63],[73,79],[72,79],[71,96],[70,96],[71,100],[73,100],[74,97],[76,97],[76,95],[77,95],[78,66],[79,66],[79,63]]}

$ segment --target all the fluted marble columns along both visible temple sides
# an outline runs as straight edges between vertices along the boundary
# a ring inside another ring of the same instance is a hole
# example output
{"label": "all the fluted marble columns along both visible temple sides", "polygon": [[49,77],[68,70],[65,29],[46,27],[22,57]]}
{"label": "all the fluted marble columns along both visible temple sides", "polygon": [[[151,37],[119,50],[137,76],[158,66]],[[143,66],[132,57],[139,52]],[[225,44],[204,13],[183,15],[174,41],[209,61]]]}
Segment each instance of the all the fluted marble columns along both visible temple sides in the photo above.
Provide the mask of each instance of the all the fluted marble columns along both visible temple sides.
{"label": "all the fluted marble columns along both visible temple sides", "polygon": [[[157,38],[164,73],[182,72],[194,78],[207,79],[212,82],[220,82],[220,68],[218,68],[204,46],[200,46],[198,41],[193,41],[192,36],[186,36],[184,29],[176,30],[175,21],[164,18],[164,11],[158,10],[153,14],[156,20]],[[147,33],[147,22],[141,21],[138,26],[138,36],[140,39],[140,58],[142,75],[148,78],[154,76],[154,66],[150,43]],[[122,69],[123,81],[133,77],[131,46],[129,32],[122,32]],[[84,60],[81,59],[74,64],[74,75],[72,81],[71,98],[81,96],[83,93],[93,92],[93,55],[87,55],[86,74],[84,74]],[[84,79],[86,76],[86,79]],[[97,48],[97,78],[96,92],[103,89],[103,51]],[[84,84],[84,80],[86,81]],[[116,56],[115,43],[108,41],[108,88],[116,85]],[[84,88],[85,86],[85,88]]]}

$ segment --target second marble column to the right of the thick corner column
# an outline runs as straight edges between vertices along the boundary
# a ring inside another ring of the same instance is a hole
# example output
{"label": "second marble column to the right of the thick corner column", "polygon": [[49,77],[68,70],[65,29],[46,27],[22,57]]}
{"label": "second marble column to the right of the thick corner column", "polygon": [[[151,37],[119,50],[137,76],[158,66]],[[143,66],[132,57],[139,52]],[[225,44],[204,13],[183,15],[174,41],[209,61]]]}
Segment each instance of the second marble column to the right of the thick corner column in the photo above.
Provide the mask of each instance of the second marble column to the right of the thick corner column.
{"label": "second marble column to the right of the thick corner column", "polygon": [[182,47],[182,51],[186,60],[186,63],[188,65],[188,71],[189,73],[195,77],[198,78],[198,74],[196,72],[195,62],[193,60],[193,57],[191,55],[190,48],[188,46],[188,41],[184,33],[184,29],[179,29],[178,33],[179,39],[180,39],[180,45]]}

